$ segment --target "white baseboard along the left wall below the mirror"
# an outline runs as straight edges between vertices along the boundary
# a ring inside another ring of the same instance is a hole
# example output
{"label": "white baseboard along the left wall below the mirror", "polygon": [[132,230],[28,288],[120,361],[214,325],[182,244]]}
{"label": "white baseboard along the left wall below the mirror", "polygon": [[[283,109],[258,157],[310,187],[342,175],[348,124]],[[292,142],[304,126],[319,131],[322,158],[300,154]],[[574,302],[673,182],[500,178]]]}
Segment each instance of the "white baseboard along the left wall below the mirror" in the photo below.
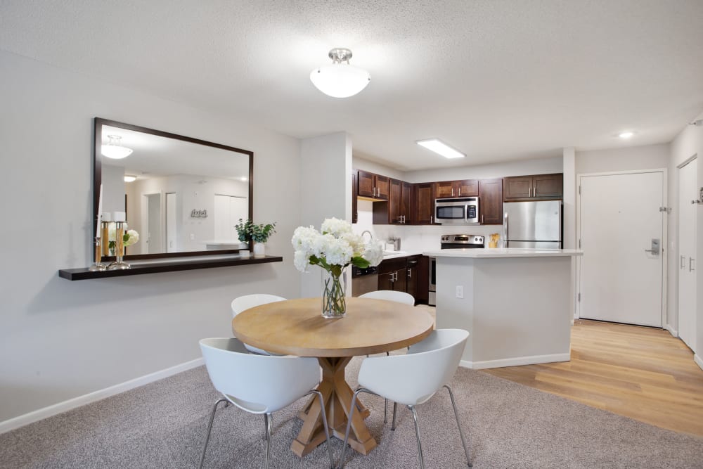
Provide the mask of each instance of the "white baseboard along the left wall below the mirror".
{"label": "white baseboard along the left wall below the mirror", "polygon": [[53,404],[51,406],[43,407],[42,409],[37,409],[30,413],[25,413],[24,415],[11,418],[10,420],[5,420],[0,422],[0,433],[9,432],[10,430],[15,430],[15,428],[20,428],[30,423],[37,422],[37,420],[42,420],[51,416],[55,416],[59,413],[70,411],[80,406],[90,404],[91,402],[99,401],[105,399],[105,397],[114,396],[115,394],[120,394],[121,392],[133,390],[135,387],[140,387],[153,383],[154,381],[161,380],[163,378],[168,378],[169,376],[176,375],[196,366],[205,364],[202,358],[186,361],[171,368],[166,368],[165,370],[156,371],[155,373],[150,373],[148,375],[140,376],[139,378],[134,378],[134,380],[125,381],[118,385],[105,387],[103,390],[98,390],[90,392],[89,394],[84,394],[79,397],[74,397],[73,399],[68,399],[67,401],[59,402],[58,404]]}

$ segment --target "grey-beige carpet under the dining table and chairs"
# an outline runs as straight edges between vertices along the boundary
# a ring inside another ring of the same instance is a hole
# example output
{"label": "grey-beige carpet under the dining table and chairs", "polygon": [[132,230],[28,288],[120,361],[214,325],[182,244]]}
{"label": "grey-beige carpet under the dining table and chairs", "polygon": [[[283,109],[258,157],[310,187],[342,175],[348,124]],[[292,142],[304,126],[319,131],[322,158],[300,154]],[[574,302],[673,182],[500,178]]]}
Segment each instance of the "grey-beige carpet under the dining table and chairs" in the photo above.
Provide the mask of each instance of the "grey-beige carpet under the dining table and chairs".
{"label": "grey-beige carpet under the dining table and chairs", "polygon": [[[350,383],[360,358],[347,368]],[[703,439],[593,409],[486,373],[459,368],[451,383],[475,468],[702,468]],[[363,395],[363,394],[362,394]],[[195,468],[218,398],[204,367],[0,435],[2,468]],[[347,468],[418,466],[413,420],[383,423],[383,401],[363,397],[379,446],[347,451]],[[305,458],[289,449],[303,401],[274,414],[271,467],[325,468],[325,446]],[[390,410],[389,406],[389,410]],[[462,468],[465,456],[449,396],[418,407],[427,468]],[[205,467],[259,468],[263,418],[218,411]],[[333,439],[335,458],[342,442]]]}

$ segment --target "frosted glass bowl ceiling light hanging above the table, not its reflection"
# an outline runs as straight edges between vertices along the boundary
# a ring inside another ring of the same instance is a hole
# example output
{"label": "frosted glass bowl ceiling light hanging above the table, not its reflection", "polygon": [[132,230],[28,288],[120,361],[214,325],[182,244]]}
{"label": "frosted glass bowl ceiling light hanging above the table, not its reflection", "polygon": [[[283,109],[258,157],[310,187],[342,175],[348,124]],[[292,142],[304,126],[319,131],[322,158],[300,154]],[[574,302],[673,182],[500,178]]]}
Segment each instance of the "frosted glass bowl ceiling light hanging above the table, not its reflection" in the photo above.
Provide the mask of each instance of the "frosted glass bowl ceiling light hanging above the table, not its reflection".
{"label": "frosted glass bowl ceiling light hanging above the table, not its reflection", "polygon": [[349,98],[366,88],[371,76],[363,68],[349,65],[352,51],[337,47],[328,56],[332,59],[331,65],[310,72],[310,80],[318,90],[333,98]]}

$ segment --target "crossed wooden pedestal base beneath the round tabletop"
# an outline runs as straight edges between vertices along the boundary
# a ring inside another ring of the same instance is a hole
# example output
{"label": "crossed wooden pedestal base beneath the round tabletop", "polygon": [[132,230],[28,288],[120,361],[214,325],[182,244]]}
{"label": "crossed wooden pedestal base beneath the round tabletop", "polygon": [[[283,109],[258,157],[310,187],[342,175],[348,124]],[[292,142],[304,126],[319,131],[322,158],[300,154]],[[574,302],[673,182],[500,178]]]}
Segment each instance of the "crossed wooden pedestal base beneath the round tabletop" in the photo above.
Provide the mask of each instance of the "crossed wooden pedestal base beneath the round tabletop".
{"label": "crossed wooden pedestal base beneath the round tabletop", "polygon": [[[317,389],[322,393],[325,401],[327,423],[330,427],[330,436],[344,439],[347,431],[347,418],[352,406],[354,392],[344,380],[344,367],[352,357],[318,358],[322,367],[322,382]],[[349,432],[349,445],[361,454],[368,454],[376,447],[376,440],[368,432],[363,419],[370,412],[356,400],[356,410],[352,418],[352,430]],[[303,428],[293,440],[290,449],[298,456],[305,456],[325,441],[325,428],[322,425],[322,411],[320,401],[312,397],[304,409],[300,411],[299,418],[303,420]]]}

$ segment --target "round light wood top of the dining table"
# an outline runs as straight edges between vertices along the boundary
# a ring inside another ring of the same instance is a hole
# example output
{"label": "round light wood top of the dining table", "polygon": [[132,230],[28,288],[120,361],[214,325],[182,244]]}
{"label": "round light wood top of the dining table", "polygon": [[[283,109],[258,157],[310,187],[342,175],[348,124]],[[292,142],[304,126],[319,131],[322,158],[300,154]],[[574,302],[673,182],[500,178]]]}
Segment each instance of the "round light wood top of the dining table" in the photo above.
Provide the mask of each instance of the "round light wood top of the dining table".
{"label": "round light wood top of the dining table", "polygon": [[254,347],[297,356],[356,356],[420,342],[432,332],[426,311],[385,300],[347,298],[347,316],[322,317],[321,298],[262,304],[232,320],[236,338]]}

